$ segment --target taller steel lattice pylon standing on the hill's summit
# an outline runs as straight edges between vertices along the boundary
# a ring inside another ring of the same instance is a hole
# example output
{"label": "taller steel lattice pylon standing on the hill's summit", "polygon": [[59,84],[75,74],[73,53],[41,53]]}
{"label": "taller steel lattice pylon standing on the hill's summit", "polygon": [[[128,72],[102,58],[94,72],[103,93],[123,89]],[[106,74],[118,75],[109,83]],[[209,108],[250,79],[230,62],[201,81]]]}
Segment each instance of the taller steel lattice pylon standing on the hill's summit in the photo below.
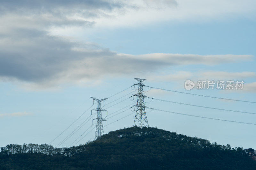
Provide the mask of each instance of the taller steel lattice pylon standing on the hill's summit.
{"label": "taller steel lattice pylon standing on the hill's summit", "polygon": [[134,85],[138,85],[138,94],[133,94],[133,96],[137,96],[137,109],[136,109],[136,115],[135,115],[135,119],[134,119],[134,124],[133,126],[137,126],[140,128],[143,127],[149,127],[148,126],[148,119],[147,119],[147,115],[146,115],[146,111],[145,111],[145,105],[144,105],[144,98],[147,97],[145,94],[143,94],[143,85],[142,82],[145,79],[141,79],[141,78],[134,78],[137,81],[139,81],[139,83],[134,84]]}

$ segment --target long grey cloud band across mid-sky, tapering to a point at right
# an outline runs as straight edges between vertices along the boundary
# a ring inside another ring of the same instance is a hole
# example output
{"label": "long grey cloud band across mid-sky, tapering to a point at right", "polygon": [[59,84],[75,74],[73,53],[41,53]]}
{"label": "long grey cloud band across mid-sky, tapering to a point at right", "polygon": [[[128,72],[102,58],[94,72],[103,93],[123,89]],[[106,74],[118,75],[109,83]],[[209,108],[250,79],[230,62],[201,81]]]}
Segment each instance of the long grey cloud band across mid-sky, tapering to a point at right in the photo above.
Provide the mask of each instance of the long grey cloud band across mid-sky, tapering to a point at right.
{"label": "long grey cloud band across mid-sky, tapering to a point at right", "polygon": [[[16,79],[38,84],[47,83],[51,86],[51,84],[90,80],[99,76],[147,74],[174,65],[216,65],[252,59],[251,55],[221,55],[221,57],[220,55],[158,53],[127,55],[116,54],[108,49],[91,49],[90,47],[77,50],[72,48],[74,44],[61,41],[56,37],[40,38],[40,42],[30,38],[30,42],[27,41],[27,43],[28,45],[23,43],[14,48],[15,50],[10,51],[6,51],[8,47],[5,48],[2,44],[0,50],[0,76],[2,79]],[[223,75],[222,73],[217,74]]]}

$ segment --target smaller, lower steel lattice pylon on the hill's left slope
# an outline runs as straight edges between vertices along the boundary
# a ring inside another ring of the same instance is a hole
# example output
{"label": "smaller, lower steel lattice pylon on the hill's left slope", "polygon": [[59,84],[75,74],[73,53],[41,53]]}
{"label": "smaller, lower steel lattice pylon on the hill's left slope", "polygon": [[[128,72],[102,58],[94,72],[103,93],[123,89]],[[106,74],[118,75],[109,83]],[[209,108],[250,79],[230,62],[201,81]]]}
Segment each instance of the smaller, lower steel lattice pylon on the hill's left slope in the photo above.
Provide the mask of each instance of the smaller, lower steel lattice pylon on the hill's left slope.
{"label": "smaller, lower steel lattice pylon on the hill's left slope", "polygon": [[[105,119],[102,119],[101,117],[101,111],[106,111],[107,112],[107,115],[108,115],[108,111],[105,110],[105,109],[102,109],[101,108],[101,102],[102,101],[105,101],[105,104],[106,104],[106,99],[108,98],[105,98],[105,99],[95,99],[93,97],[91,97],[93,99],[93,104],[94,104],[94,100],[98,102],[98,107],[97,109],[92,109],[92,110],[97,110],[97,119],[93,119],[92,120],[92,124],[93,124],[93,121],[97,121],[97,124],[96,124],[96,131],[95,131],[95,137],[94,139],[97,139],[98,137],[101,137],[101,135],[104,135],[104,131],[103,131],[103,125],[102,125],[102,121],[106,121]],[[92,110],[91,110],[91,114],[92,114]],[[107,125],[107,121],[106,121],[106,125]]]}

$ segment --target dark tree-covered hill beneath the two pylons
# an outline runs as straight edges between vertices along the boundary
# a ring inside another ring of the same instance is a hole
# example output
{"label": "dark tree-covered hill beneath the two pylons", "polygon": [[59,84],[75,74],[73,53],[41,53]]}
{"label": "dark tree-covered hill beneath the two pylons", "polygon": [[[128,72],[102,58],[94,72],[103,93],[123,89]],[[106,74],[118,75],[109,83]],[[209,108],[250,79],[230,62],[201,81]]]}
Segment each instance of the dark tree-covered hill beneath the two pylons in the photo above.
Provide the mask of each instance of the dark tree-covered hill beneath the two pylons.
{"label": "dark tree-covered hill beneath the two pylons", "polygon": [[71,148],[24,145],[2,147],[0,169],[256,169],[242,147],[157,128],[124,128]]}

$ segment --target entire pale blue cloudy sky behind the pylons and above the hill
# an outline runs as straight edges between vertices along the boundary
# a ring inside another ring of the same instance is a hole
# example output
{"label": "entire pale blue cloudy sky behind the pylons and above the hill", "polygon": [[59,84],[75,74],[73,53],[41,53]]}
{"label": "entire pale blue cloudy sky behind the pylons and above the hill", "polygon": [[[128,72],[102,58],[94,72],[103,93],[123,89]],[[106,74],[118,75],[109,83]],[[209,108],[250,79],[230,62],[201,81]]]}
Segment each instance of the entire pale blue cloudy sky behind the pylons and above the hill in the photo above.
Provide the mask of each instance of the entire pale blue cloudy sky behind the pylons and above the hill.
{"label": "entire pale blue cloudy sky behind the pylons and above the hill", "polygon": [[[132,127],[133,78],[142,78],[154,98],[144,99],[149,127],[256,148],[254,0],[0,2],[1,147],[93,140],[90,97],[108,98],[104,133]],[[197,89],[198,81],[244,83]]]}

